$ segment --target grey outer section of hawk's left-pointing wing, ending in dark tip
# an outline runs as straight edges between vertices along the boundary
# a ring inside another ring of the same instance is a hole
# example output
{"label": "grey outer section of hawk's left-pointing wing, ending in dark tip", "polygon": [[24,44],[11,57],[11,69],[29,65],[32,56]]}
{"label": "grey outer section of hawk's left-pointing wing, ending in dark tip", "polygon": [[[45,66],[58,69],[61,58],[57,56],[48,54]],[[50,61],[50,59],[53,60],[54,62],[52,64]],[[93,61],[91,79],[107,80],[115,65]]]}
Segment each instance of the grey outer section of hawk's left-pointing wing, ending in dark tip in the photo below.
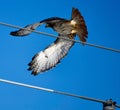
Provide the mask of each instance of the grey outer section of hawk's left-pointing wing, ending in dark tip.
{"label": "grey outer section of hawk's left-pointing wing, ending in dark tip", "polygon": [[10,35],[13,36],[27,36],[29,35],[32,31],[34,31],[38,26],[40,26],[42,23],[34,23],[25,26],[23,29],[19,29],[17,31],[10,32]]}

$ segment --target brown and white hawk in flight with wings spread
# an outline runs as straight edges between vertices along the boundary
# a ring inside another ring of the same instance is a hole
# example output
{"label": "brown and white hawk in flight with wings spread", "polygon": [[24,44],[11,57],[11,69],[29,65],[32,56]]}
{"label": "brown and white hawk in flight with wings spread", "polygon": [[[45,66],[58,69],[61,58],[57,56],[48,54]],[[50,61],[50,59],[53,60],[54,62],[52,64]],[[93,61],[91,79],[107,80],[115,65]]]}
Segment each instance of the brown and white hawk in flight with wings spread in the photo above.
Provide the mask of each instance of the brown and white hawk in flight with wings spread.
{"label": "brown and white hawk in flight with wings spread", "polygon": [[[70,41],[70,39],[74,39],[75,36],[78,35],[84,44],[88,35],[84,18],[77,8],[72,8],[70,20],[51,17],[40,22],[27,25],[23,29],[11,32],[10,34],[13,36],[26,36],[42,24],[46,24],[45,27],[50,27],[58,32],[59,38],[32,58],[32,61],[28,64],[28,70],[31,70],[33,75],[37,75],[38,73],[45,72],[55,67],[74,45],[74,41]],[[62,39],[63,37],[66,39]]]}

